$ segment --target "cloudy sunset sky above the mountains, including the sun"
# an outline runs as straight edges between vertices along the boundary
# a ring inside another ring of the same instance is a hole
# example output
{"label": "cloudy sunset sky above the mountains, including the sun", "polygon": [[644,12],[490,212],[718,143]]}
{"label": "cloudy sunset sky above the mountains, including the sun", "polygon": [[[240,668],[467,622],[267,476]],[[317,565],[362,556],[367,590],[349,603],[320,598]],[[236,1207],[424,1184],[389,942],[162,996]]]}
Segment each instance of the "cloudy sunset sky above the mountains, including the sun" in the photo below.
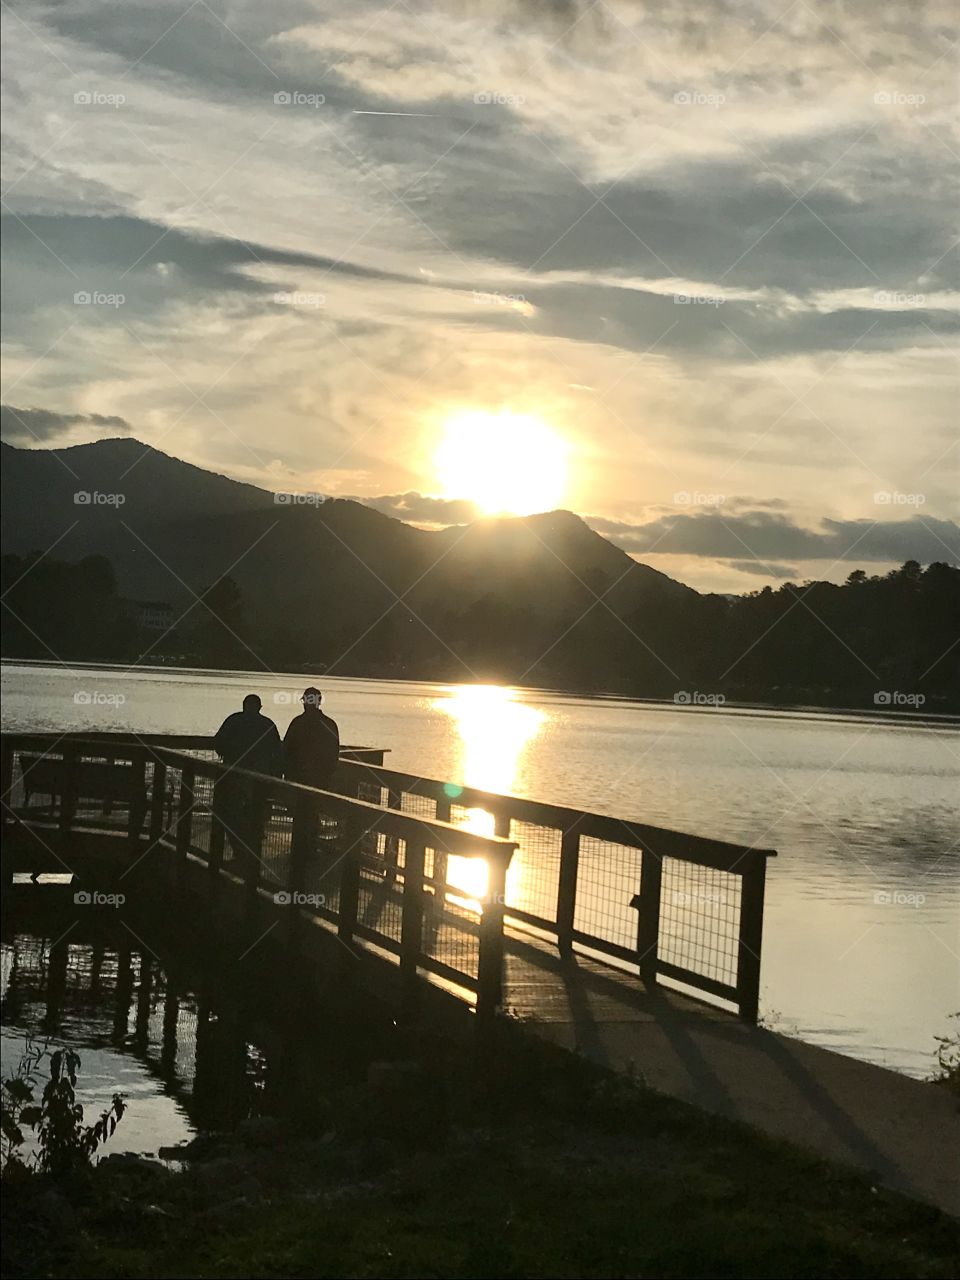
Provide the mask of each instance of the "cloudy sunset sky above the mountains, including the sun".
{"label": "cloudy sunset sky above the mountains, including the sun", "polygon": [[4,438],[700,590],[956,563],[952,18],[5,3]]}

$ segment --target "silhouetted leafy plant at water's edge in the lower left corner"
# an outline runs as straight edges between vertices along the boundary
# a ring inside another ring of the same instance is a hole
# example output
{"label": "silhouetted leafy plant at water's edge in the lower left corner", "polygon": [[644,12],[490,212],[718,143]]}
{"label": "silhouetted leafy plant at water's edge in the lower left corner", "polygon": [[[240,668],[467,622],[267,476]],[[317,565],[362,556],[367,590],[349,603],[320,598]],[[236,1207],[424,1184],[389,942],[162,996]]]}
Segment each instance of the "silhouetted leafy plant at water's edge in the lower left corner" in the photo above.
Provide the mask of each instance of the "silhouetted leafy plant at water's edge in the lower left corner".
{"label": "silhouetted leafy plant at water's edge in the lower left corner", "polygon": [[[50,1078],[36,1101],[40,1064],[50,1059]],[[86,1167],[97,1148],[113,1137],[123,1117],[123,1094],[114,1093],[106,1111],[90,1125],[83,1124],[83,1106],[77,1101],[79,1053],[59,1048],[50,1053],[32,1041],[20,1059],[17,1074],[3,1084],[3,1176],[40,1171],[63,1178]],[[26,1128],[37,1135],[37,1149],[24,1160]]]}

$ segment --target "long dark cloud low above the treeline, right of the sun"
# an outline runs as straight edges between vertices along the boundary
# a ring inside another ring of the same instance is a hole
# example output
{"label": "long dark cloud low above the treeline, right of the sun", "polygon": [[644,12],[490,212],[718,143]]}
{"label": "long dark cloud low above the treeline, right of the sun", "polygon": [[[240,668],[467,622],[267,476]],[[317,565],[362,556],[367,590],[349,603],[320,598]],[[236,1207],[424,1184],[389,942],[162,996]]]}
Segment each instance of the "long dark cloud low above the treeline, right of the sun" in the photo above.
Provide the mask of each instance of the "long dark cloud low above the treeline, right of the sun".
{"label": "long dark cloud low above the treeline, right of the sun", "polygon": [[710,559],[746,559],[755,556],[778,562],[960,562],[960,525],[932,516],[876,521],[823,520],[819,529],[806,529],[788,516],[765,511],[744,515],[727,515],[723,511],[681,513],[659,516],[643,525],[590,517],[588,524],[598,534],[634,554],[657,552],[667,556],[704,556]]}

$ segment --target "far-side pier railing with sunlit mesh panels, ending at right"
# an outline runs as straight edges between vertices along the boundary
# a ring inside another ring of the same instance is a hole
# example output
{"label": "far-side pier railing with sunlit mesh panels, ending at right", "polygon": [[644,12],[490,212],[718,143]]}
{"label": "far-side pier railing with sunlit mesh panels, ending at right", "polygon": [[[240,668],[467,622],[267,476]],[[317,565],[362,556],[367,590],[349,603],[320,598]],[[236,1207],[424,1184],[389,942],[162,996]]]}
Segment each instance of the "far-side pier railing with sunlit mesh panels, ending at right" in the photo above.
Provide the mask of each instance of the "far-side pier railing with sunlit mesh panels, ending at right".
{"label": "far-side pier railing with sunlit mesh panels, ending at right", "polygon": [[516,841],[507,923],[736,1006],[755,1021],[767,859],[709,840],[563,805],[344,762],[334,785],[404,813]]}

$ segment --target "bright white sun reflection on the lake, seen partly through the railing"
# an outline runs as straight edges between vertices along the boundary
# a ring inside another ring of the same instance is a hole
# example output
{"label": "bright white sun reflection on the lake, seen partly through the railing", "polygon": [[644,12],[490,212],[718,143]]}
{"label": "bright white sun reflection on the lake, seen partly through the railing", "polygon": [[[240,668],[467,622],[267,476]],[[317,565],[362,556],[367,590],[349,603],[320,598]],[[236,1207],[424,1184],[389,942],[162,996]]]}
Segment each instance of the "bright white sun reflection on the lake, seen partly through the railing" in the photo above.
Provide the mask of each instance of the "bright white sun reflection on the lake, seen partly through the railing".
{"label": "bright white sun reflection on the lake, seen partly through the railing", "polygon": [[[462,785],[480,791],[512,792],[524,751],[543,728],[547,713],[518,701],[516,690],[499,685],[463,685],[433,705],[456,722],[460,735],[457,776]],[[451,799],[456,803],[456,795]],[[494,815],[486,809],[467,809],[462,826],[477,836],[495,833]],[[520,873],[515,858],[507,877],[508,897],[512,897]],[[448,879],[471,902],[486,896],[488,867],[481,858],[451,858]]]}

